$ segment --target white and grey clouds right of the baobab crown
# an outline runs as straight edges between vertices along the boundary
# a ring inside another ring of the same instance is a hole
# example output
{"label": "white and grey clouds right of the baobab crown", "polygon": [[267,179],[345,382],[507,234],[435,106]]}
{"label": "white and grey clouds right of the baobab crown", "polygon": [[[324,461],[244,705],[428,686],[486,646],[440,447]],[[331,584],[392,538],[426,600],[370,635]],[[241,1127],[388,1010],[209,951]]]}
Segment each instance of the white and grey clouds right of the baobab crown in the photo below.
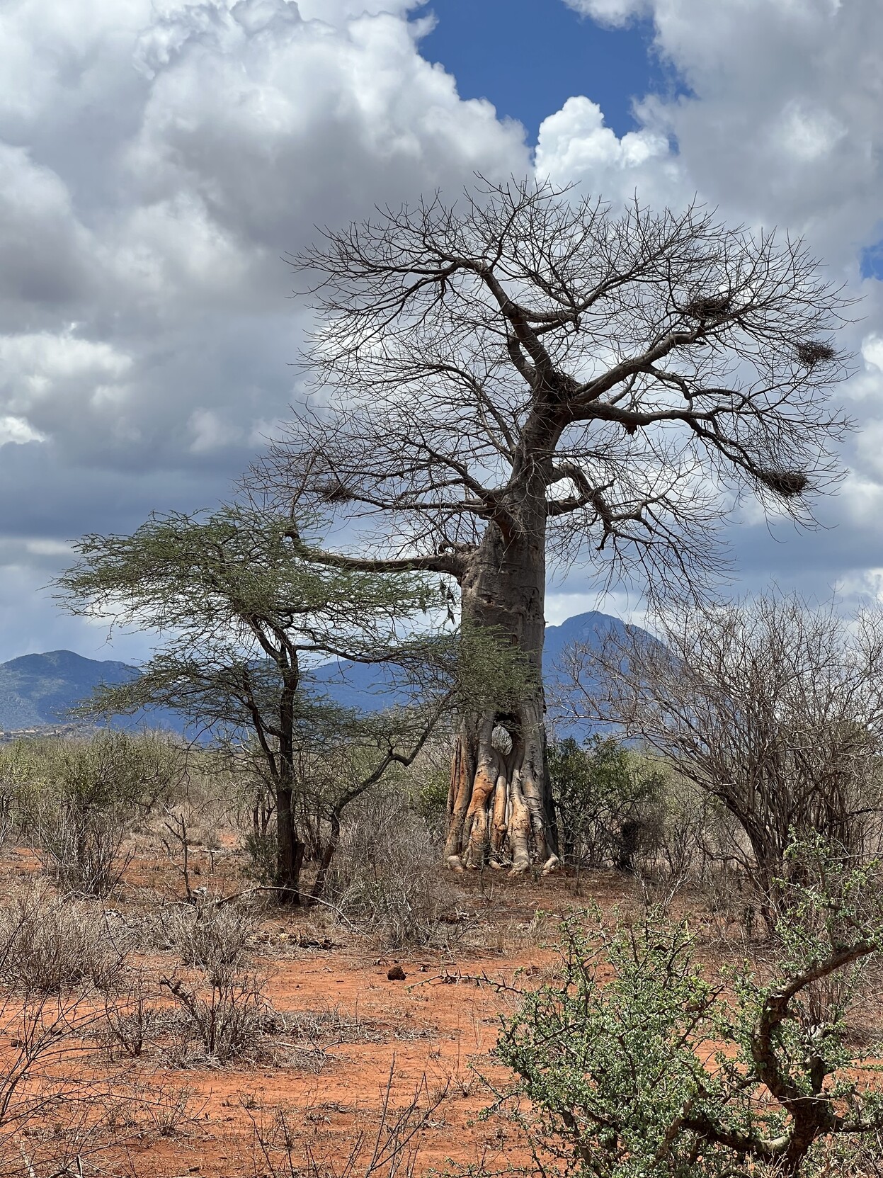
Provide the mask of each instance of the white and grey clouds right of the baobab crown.
{"label": "white and grey clouds right of the baobab crown", "polygon": [[844,450],[850,474],[817,503],[817,531],[768,525],[750,504],[737,512],[725,529],[733,584],[883,588],[874,571],[883,565],[883,283],[859,277],[862,249],[879,238],[883,8],[876,0],[566,2],[610,24],[652,18],[656,52],[690,92],[650,95],[636,112],[640,130],[622,140],[590,92],[571,99],[540,127],[538,165],[615,200],[637,190],[650,204],[678,205],[697,194],[730,223],[802,234],[858,300],[839,340],[856,376],[834,392],[858,426]]}

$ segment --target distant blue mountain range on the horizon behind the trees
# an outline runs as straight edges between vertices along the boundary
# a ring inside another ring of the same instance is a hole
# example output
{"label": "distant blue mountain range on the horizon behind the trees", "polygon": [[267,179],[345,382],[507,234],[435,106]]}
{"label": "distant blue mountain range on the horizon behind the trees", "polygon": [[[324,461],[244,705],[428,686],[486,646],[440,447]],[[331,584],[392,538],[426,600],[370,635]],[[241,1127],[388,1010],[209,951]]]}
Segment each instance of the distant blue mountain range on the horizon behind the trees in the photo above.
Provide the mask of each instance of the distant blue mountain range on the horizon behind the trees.
{"label": "distant blue mountain range on the horizon behind the trees", "polygon": [[[560,626],[547,626],[543,669],[546,682],[558,676],[557,664],[575,642],[597,646],[606,634],[624,635],[626,626],[618,617],[596,611],[577,614]],[[85,659],[72,650],[22,655],[0,663],[0,729],[5,732],[58,726],[68,722],[67,712],[92,694],[99,683],[121,683],[138,675],[138,668],[113,660]],[[396,703],[394,688],[384,683],[379,667],[361,663],[326,663],[311,673],[316,687],[334,702],[366,712]],[[119,717],[115,727],[168,728],[182,732],[181,715],[167,709],[151,709]]]}

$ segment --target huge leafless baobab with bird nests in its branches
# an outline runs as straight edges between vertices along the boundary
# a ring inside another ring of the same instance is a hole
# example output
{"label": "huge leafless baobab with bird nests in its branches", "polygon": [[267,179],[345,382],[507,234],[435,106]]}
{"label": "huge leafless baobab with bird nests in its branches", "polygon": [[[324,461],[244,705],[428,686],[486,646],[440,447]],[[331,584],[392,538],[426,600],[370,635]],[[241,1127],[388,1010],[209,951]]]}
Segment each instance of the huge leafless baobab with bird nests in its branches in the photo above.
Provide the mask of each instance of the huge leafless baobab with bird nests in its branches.
{"label": "huge leafless baobab with bird nests in its branches", "polygon": [[364,523],[363,555],[319,558],[447,574],[464,627],[524,654],[514,704],[463,717],[446,854],[551,866],[547,556],[691,594],[728,495],[804,512],[847,428],[844,300],[799,241],[550,184],[379,210],[294,260],[320,397],[264,469],[298,510]]}

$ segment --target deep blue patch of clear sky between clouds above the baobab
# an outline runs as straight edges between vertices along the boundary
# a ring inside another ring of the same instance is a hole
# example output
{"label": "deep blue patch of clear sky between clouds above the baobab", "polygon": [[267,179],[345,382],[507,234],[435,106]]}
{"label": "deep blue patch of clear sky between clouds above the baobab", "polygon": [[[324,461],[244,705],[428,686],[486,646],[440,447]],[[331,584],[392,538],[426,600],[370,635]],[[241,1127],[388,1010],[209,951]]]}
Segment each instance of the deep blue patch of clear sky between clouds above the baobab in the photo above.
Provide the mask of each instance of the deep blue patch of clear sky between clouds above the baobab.
{"label": "deep blue patch of clear sky between clouds above the baobab", "polygon": [[537,141],[539,124],[566,99],[597,102],[617,135],[633,131],[631,100],[670,93],[676,81],[652,49],[652,25],[602,28],[559,0],[429,0],[436,28],[420,42],[457,78],[460,98],[486,98]]}

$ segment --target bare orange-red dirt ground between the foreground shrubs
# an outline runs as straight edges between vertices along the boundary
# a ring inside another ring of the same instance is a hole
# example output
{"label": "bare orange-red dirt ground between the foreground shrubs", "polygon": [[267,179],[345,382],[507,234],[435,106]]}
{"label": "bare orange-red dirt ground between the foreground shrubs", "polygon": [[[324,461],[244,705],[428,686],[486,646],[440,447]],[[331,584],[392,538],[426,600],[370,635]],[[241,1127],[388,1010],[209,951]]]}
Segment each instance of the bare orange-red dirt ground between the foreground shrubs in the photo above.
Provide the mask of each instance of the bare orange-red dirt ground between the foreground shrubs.
{"label": "bare orange-red dirt ground between the foreground shrubs", "polygon": [[[162,899],[168,902],[175,889],[181,894],[174,867],[158,858],[155,846],[144,841],[135,849],[122,898],[114,900],[124,915],[148,912]],[[194,860],[200,875],[193,882],[210,882],[213,895],[247,886],[234,854],[195,853]],[[24,851],[8,856],[4,867],[9,886],[39,869]],[[106,1047],[84,1044],[79,1061],[84,1078],[101,1079],[106,1073],[118,1091],[127,1076],[133,1092],[148,1084],[152,1099],[172,1123],[158,1126],[122,1117],[115,1145],[87,1157],[84,1172],[93,1169],[132,1178],[293,1178],[293,1173],[341,1178],[360,1139],[370,1153],[387,1086],[393,1111],[405,1108],[416,1093],[423,1108],[438,1100],[414,1138],[419,1153],[413,1174],[444,1170],[449,1159],[462,1166],[483,1160],[489,1172],[527,1164],[511,1121],[478,1119],[491,1099],[479,1073],[502,1076],[490,1053],[499,1017],[517,1001],[506,987],[536,984],[550,967],[553,953],[546,942],[556,915],[591,904],[611,913],[617,905],[640,901],[633,882],[615,872],[589,873],[579,896],[575,881],[562,876],[535,881],[469,874],[458,876],[454,886],[469,920],[460,935],[452,929],[445,951],[383,953],[369,937],[347,933],[331,914],[317,915],[316,909],[286,913],[267,906],[255,915],[253,962],[266,978],[272,1007],[283,1017],[337,1012],[354,1025],[350,1038],[356,1041],[307,1044],[280,1064],[223,1067],[172,1067],[159,1051],[147,1051],[137,1061],[114,1060]],[[305,941],[330,945],[300,947]],[[721,952],[726,955],[724,948],[712,957]],[[135,959],[133,966],[151,975],[159,999],[159,975],[173,969],[175,961],[171,952]],[[404,981],[387,979],[397,962],[406,974]],[[482,978],[487,980],[476,981]],[[170,1112],[175,1106],[178,1111]],[[280,1112],[291,1169],[278,1149]],[[261,1153],[259,1137],[275,1141],[273,1166]],[[364,1172],[364,1166],[353,1171]],[[32,1178],[40,1178],[39,1169]]]}

